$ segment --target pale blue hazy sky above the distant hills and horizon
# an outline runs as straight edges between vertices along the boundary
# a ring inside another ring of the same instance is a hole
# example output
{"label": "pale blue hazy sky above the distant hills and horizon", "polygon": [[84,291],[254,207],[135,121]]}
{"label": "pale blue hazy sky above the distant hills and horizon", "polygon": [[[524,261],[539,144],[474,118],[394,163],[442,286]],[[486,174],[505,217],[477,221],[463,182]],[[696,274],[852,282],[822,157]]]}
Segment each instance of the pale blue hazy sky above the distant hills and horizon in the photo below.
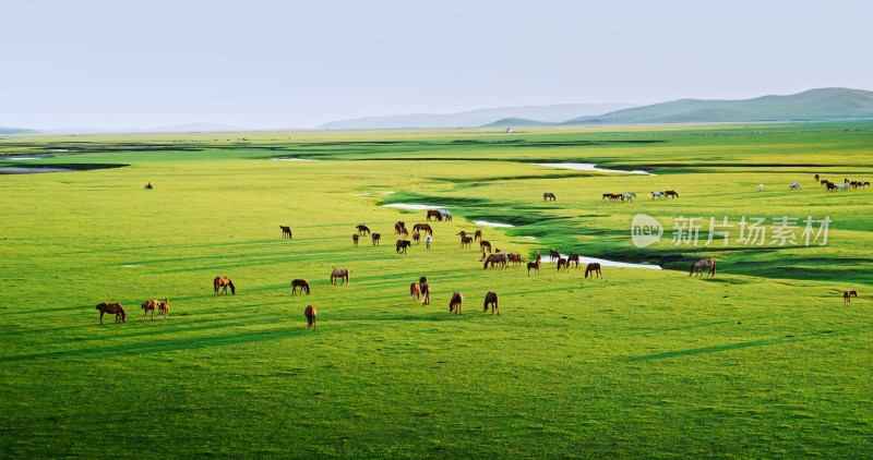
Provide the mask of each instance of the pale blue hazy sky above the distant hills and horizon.
{"label": "pale blue hazy sky above the distant hills and horizon", "polygon": [[869,0],[0,0],[0,16],[8,128],[873,89]]}

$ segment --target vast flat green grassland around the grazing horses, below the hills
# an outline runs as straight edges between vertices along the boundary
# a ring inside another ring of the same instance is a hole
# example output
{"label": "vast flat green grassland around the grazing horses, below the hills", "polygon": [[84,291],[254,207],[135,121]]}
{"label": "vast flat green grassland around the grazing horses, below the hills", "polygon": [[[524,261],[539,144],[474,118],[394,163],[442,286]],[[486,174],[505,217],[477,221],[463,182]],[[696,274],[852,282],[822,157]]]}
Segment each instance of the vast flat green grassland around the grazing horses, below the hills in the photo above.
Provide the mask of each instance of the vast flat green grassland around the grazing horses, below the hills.
{"label": "vast flat green grassland around the grazing horses, below the hills", "polygon": [[[3,155],[50,149],[69,152],[0,158],[80,169],[0,175],[0,457],[873,450],[873,191],[813,182],[873,180],[871,123],[0,141]],[[802,191],[788,191],[794,181]],[[619,192],[637,199],[600,198]],[[380,206],[391,203],[455,219],[431,222],[430,250],[398,255],[393,223],[424,213]],[[636,214],[663,223],[659,244],[633,245]],[[680,216],[706,219],[696,245],[671,244]],[[738,228],[704,246],[708,218],[725,216],[833,222],[824,246],[741,244]],[[382,245],[352,247],[358,223]],[[482,270],[455,235],[476,228],[526,259],[554,247],[666,269]],[[715,278],[687,276],[702,256],[718,261]],[[350,285],[331,286],[332,267],[350,269]],[[421,275],[429,306],[408,298]],[[216,276],[236,295],[213,296]],[[312,294],[291,296],[295,278]],[[848,289],[860,298],[844,307]],[[482,313],[489,290],[500,316]],[[449,312],[453,291],[463,315]],[[144,323],[140,303],[165,296],[170,319]],[[116,301],[127,324],[100,326],[94,306]]]}

